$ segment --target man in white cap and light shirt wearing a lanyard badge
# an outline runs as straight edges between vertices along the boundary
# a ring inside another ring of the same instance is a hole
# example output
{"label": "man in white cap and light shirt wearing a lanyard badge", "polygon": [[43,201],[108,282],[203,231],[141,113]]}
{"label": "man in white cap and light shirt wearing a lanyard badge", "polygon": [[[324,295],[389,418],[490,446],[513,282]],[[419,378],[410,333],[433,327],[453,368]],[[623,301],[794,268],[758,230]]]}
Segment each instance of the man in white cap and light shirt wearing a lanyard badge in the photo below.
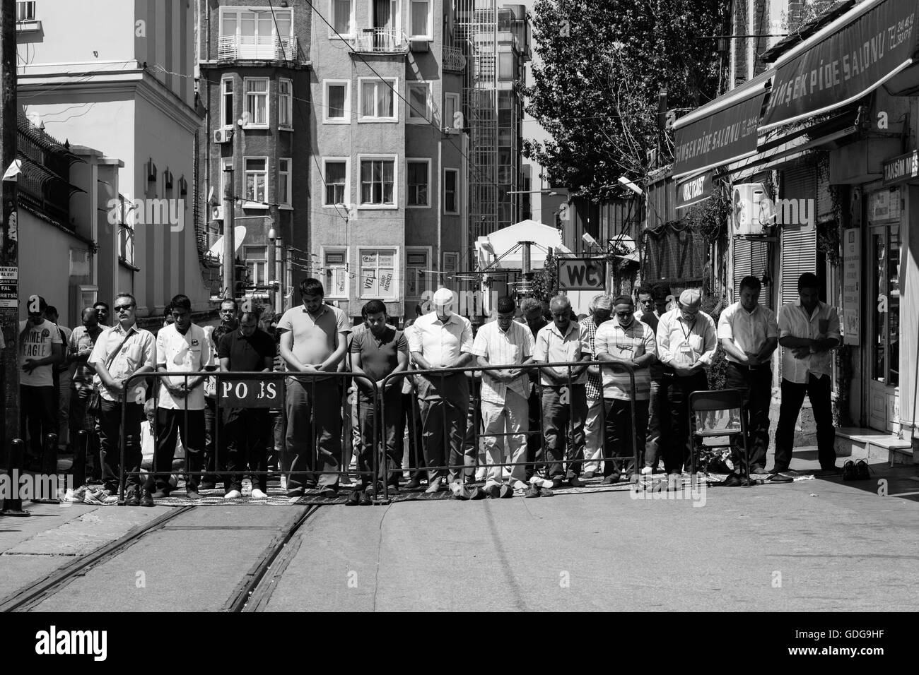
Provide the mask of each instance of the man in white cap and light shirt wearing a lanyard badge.
{"label": "man in white cap and light shirt wearing a lanyard badge", "polygon": [[689,395],[709,388],[705,366],[715,356],[715,322],[699,311],[702,295],[695,288],[680,294],[676,309],[657,324],[657,357],[664,366],[661,423],[669,425],[664,468],[671,476],[689,471],[694,452],[689,424]]}

